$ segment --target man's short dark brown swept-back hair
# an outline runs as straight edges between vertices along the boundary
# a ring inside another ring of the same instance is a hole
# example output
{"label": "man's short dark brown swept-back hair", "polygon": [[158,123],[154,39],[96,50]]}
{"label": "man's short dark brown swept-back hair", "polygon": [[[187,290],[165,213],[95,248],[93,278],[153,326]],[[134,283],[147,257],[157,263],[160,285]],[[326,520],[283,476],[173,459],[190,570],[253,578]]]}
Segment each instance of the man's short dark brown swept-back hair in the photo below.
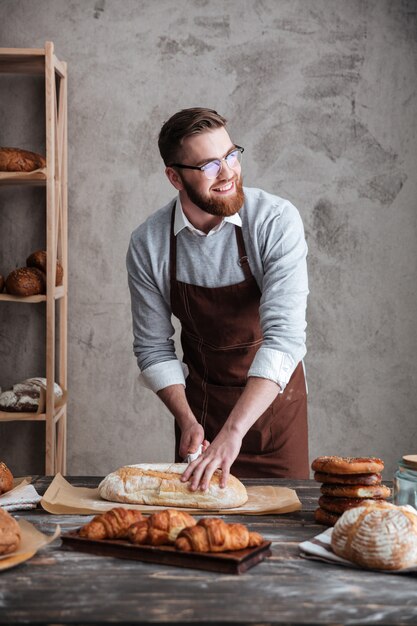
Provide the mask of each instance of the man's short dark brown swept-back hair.
{"label": "man's short dark brown swept-back hair", "polygon": [[183,140],[207,130],[226,126],[227,120],[213,109],[194,107],[178,111],[161,128],[158,147],[165,165],[175,162]]}

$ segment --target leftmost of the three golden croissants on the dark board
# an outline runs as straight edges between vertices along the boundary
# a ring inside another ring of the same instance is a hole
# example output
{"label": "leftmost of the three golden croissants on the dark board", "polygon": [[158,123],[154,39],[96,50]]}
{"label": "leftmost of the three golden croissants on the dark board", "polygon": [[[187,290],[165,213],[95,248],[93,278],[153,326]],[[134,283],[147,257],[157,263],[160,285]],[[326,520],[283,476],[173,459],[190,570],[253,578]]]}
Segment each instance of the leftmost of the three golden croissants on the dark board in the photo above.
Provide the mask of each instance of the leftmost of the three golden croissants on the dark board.
{"label": "leftmost of the three golden croissants on the dark board", "polygon": [[91,522],[80,528],[80,537],[87,539],[123,539],[127,537],[129,526],[143,519],[140,511],[116,507],[102,515],[96,515]]}

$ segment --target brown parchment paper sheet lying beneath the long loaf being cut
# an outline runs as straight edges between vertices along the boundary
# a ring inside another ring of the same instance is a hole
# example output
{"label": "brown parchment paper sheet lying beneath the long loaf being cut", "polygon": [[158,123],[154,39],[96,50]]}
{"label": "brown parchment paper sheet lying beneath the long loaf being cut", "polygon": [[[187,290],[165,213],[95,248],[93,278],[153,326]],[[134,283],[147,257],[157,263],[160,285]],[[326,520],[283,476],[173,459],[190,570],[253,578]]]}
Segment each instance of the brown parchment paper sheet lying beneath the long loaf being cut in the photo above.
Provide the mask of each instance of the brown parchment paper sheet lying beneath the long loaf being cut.
{"label": "brown parchment paper sheet lying beneath the long loaf being cut", "polygon": [[[179,510],[205,515],[217,513],[219,515],[272,515],[290,513],[301,509],[301,502],[296,492],[287,487],[247,487],[249,500],[246,504],[235,509],[191,509],[175,507]],[[122,504],[108,502],[98,495],[98,489],[73,487],[61,474],[57,474],[41,500],[41,506],[55,515],[104,513],[116,506],[126,509],[137,509],[144,513],[153,513],[166,508],[150,506],[148,504]]]}

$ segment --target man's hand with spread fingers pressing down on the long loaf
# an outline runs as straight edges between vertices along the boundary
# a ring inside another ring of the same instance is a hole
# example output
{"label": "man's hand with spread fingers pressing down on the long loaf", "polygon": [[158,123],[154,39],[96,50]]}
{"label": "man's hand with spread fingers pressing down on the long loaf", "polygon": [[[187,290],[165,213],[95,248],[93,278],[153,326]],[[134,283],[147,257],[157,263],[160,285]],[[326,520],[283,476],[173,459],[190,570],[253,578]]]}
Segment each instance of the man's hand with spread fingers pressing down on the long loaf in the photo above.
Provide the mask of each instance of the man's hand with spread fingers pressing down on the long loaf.
{"label": "man's hand with spread fingers pressing down on the long loaf", "polygon": [[219,468],[222,470],[220,487],[226,487],[230,467],[239,454],[241,445],[242,437],[239,433],[222,429],[198,459],[189,464],[181,480],[183,482],[190,480],[191,491],[196,491],[198,487],[205,491],[214,472]]}

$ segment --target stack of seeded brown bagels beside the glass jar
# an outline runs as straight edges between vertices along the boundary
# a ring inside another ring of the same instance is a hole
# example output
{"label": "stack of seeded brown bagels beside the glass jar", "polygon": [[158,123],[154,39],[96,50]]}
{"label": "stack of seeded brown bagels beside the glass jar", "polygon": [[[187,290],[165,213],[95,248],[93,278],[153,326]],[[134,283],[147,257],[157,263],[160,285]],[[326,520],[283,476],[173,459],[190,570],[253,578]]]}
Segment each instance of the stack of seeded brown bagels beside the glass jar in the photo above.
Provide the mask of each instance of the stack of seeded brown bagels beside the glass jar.
{"label": "stack of seeded brown bagels beside the glass jar", "polygon": [[348,509],[365,500],[386,500],[391,490],[382,484],[384,462],[374,457],[320,456],[313,461],[314,480],[322,483],[319,508],[314,519],[319,524],[334,526]]}

